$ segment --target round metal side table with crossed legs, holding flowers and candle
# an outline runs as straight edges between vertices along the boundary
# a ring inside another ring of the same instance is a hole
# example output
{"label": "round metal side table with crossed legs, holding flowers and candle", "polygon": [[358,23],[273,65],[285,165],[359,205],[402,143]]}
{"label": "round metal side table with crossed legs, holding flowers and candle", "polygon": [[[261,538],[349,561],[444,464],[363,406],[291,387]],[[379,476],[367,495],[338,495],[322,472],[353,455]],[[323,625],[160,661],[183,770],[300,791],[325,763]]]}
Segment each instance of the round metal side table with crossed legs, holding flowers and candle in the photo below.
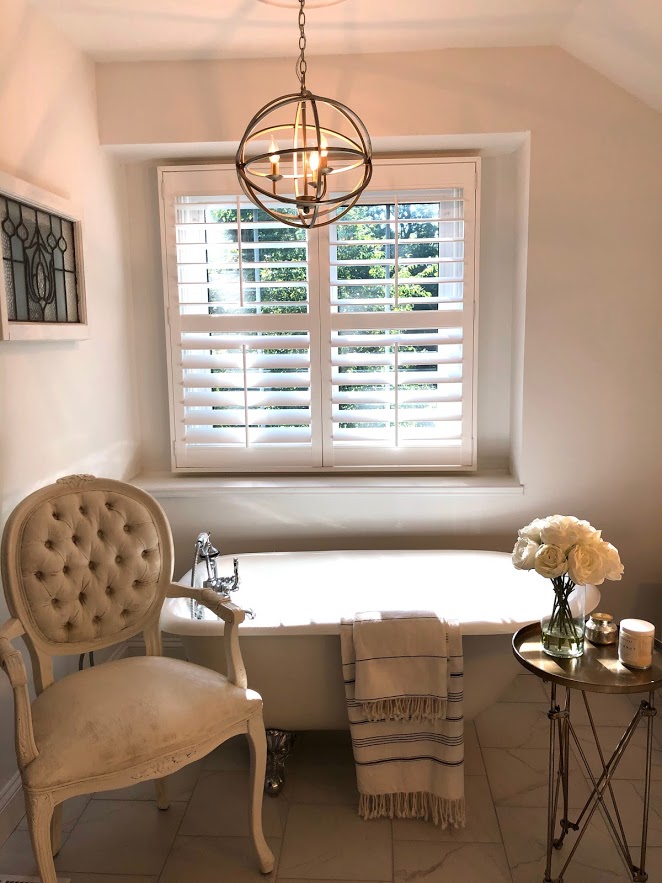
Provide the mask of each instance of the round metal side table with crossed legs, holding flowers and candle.
{"label": "round metal side table with crossed legs, holding flowers and candle", "polygon": [[[653,651],[653,667],[644,671],[626,668],[618,660],[618,649],[615,644],[598,647],[586,641],[584,654],[577,659],[559,659],[549,656],[544,652],[540,641],[541,633],[538,624],[527,625],[519,629],[513,636],[513,653],[515,658],[525,668],[533,672],[543,681],[551,684],[550,708],[547,712],[549,718],[549,791],[547,795],[547,864],[545,867],[544,883],[563,883],[563,875],[572,861],[577,847],[593,817],[594,812],[600,806],[605,821],[611,829],[614,841],[632,875],[633,881],[645,881],[646,873],[646,839],[648,834],[648,812],[650,806],[650,782],[651,782],[651,757],[653,748],[653,717],[655,716],[655,693],[662,687],[662,643],[655,641]],[[563,703],[557,702],[557,687],[565,688]],[[577,737],[572,725],[570,715],[570,697],[573,690],[579,690],[582,695],[586,714],[591,725],[593,738],[598,750],[598,756],[602,771],[596,778],[588,763],[584,749]],[[642,699],[639,707],[634,711],[632,720],[625,728],[618,745],[613,750],[608,760],[605,754],[598,731],[593,722],[593,715],[588,701],[588,693],[648,693],[647,699]],[[611,780],[623,757],[625,749],[639,725],[642,718],[646,718],[646,768],[644,772],[644,809],[641,828],[641,853],[639,864],[632,861],[630,849],[625,837],[621,814],[616,803],[616,797],[612,789]],[[569,787],[569,760],[570,740],[572,739],[577,752],[589,775],[592,790],[584,808],[579,813],[577,820],[571,822],[568,818],[568,787]],[[605,799],[605,792],[609,792],[611,806]],[[559,819],[559,836],[555,837],[559,798],[563,802],[563,810]],[[569,831],[577,831],[577,837],[570,853],[559,872],[558,877],[552,877],[552,849],[561,849],[563,841]]]}

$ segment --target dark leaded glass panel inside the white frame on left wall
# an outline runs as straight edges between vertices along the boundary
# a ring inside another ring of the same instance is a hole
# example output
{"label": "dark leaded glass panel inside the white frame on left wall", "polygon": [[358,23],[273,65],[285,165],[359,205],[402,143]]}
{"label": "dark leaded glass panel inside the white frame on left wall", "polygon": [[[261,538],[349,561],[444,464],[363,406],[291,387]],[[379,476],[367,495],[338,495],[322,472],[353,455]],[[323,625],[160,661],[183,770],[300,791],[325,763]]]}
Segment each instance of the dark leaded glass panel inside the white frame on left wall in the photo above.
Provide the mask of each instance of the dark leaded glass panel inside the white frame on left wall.
{"label": "dark leaded glass panel inside the white frame on left wall", "polygon": [[80,322],[74,222],[0,193],[10,322]]}

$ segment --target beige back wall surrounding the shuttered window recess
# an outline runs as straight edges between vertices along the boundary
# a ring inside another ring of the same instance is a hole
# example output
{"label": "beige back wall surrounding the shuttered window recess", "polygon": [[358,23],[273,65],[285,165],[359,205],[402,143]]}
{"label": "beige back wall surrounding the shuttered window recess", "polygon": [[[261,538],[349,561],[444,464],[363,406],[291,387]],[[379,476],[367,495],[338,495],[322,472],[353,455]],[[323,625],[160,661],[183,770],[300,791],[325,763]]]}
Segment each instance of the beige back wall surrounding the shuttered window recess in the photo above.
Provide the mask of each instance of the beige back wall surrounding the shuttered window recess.
{"label": "beige back wall surrounding the shuttered window recess", "polygon": [[[552,48],[420,52],[397,64],[392,55],[314,58],[309,70],[311,87],[346,101],[382,145],[444,146],[453,136],[470,148],[495,133],[530,133],[514,184],[495,197],[497,223],[518,248],[510,281],[482,275],[480,331],[483,340],[494,330],[490,310],[507,287],[515,330],[498,357],[512,381],[502,417],[513,426],[524,493],[232,487],[202,497],[161,494],[179,568],[188,566],[202,528],[215,531],[226,551],[509,549],[517,527],[559,511],[589,518],[622,552],[626,577],[606,589],[604,606],[651,616],[662,628],[662,118]],[[97,84],[105,144],[165,160],[228,156],[252,112],[293,87],[293,68],[291,59],[102,64]],[[155,182],[145,167],[130,174],[143,440],[146,462],[167,469]],[[515,223],[527,211],[528,266],[526,230]],[[479,382],[488,410],[498,412],[485,392],[489,371]]]}

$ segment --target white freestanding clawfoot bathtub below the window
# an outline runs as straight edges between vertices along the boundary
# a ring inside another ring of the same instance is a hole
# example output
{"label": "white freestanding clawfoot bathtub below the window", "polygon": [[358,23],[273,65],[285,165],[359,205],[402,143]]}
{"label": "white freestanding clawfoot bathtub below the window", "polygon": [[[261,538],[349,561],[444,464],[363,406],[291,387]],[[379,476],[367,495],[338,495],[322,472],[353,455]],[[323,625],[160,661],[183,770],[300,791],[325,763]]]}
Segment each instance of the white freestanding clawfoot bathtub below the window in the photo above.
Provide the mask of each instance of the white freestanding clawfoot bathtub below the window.
{"label": "white freestanding clawfoot bathtub below the window", "polygon": [[[219,574],[232,558],[219,558]],[[519,669],[513,633],[551,608],[549,581],[517,571],[504,552],[278,552],[239,556],[233,601],[256,617],[240,627],[249,686],[264,700],[265,723],[279,730],[347,729],[340,621],[357,611],[434,610],[462,625],[464,714],[491,705]],[[201,585],[204,567],[196,583]],[[191,574],[180,580],[190,585]],[[587,587],[586,610],[600,592]],[[166,601],[164,632],[178,635],[192,662],[224,672],[223,623],[193,619],[186,599]]]}

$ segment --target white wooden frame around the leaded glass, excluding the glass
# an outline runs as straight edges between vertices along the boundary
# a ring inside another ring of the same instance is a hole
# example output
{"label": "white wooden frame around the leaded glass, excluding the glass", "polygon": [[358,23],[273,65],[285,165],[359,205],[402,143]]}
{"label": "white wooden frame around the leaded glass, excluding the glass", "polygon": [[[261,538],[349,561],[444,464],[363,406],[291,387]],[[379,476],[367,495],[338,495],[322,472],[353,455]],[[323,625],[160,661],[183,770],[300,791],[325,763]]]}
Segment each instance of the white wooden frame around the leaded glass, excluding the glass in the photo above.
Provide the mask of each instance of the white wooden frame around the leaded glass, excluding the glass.
{"label": "white wooden frame around the leaded glass, excluding the glass", "polygon": [[78,321],[22,321],[9,318],[7,290],[5,287],[5,264],[7,262],[2,251],[2,272],[0,272],[0,340],[85,340],[89,337],[87,325],[87,309],[85,303],[85,278],[83,273],[83,242],[81,232],[81,214],[75,204],[61,196],[42,190],[28,181],[15,178],[0,171],[0,194],[23,203],[31,209],[42,210],[64,220],[70,221],[74,231],[76,297]]}

